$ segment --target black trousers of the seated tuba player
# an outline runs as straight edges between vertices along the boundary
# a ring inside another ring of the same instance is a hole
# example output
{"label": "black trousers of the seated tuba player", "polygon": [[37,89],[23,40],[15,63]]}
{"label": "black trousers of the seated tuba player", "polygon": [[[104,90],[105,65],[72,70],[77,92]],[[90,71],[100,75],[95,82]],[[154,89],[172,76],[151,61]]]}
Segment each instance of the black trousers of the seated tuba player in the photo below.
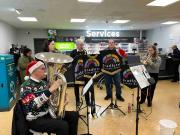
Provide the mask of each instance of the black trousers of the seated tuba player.
{"label": "black trousers of the seated tuba player", "polygon": [[66,111],[64,119],[53,119],[49,114],[27,122],[28,127],[37,132],[55,133],[56,135],[77,135],[78,113]]}

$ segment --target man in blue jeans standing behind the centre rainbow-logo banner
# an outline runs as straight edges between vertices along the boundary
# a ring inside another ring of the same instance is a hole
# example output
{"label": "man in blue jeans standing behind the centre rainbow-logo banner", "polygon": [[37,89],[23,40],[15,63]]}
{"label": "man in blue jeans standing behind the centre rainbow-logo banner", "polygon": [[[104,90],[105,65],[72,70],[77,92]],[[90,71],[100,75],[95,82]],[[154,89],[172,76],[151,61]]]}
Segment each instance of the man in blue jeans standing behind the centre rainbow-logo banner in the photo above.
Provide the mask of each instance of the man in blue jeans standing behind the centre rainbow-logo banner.
{"label": "man in blue jeans standing behind the centre rainbow-logo banner", "polygon": [[[108,41],[108,48],[105,50],[116,50],[116,46],[113,39]],[[120,87],[120,72],[114,75],[109,75],[104,73],[105,86],[106,86],[106,97],[105,100],[112,98],[112,85],[114,83],[116,87],[116,98],[122,102],[124,102],[124,98],[121,96],[121,87]]]}

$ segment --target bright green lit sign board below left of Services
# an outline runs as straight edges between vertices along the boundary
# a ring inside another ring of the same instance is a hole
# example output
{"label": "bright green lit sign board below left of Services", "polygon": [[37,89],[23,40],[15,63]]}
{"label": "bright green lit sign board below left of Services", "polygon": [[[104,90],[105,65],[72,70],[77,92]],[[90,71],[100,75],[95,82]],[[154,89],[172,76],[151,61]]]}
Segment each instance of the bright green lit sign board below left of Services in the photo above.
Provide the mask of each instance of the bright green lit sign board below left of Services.
{"label": "bright green lit sign board below left of Services", "polygon": [[71,51],[76,48],[74,42],[55,42],[55,48],[59,51]]}

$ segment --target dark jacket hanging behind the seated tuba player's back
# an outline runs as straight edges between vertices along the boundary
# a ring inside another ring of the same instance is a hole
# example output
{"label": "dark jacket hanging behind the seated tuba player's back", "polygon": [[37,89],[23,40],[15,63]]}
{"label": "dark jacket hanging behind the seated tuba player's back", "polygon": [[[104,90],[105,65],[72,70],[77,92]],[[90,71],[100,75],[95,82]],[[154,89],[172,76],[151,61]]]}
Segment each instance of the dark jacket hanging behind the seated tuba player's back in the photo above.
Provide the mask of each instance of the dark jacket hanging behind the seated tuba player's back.
{"label": "dark jacket hanging behind the seated tuba player's back", "polygon": [[11,135],[28,135],[28,133],[29,129],[26,124],[21,102],[18,101],[13,110]]}

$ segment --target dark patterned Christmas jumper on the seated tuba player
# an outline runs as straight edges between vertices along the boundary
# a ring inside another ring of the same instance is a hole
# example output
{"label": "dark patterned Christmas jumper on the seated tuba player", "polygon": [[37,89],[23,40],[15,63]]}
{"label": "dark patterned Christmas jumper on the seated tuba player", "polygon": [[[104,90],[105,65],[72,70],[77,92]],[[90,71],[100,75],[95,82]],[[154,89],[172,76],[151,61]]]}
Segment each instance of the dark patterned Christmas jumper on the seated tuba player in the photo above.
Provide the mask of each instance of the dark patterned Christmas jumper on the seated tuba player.
{"label": "dark patterned Christmas jumper on the seated tuba player", "polygon": [[51,93],[45,81],[30,78],[21,85],[21,101],[26,120],[31,121],[48,113],[48,99]]}

